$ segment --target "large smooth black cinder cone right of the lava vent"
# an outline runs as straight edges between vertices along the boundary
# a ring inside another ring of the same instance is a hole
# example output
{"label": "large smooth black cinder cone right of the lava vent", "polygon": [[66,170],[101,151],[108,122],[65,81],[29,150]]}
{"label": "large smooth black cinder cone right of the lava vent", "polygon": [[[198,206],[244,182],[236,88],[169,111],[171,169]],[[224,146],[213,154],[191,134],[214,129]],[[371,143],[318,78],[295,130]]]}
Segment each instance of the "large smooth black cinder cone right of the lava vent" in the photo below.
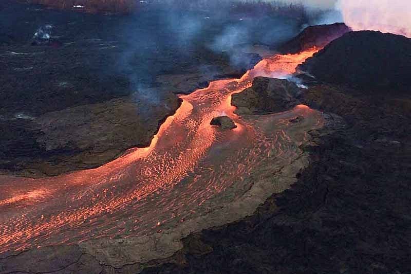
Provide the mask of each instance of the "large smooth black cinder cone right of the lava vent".
{"label": "large smooth black cinder cone right of the lava vent", "polygon": [[316,79],[372,92],[411,90],[411,39],[377,31],[349,32],[299,67]]}

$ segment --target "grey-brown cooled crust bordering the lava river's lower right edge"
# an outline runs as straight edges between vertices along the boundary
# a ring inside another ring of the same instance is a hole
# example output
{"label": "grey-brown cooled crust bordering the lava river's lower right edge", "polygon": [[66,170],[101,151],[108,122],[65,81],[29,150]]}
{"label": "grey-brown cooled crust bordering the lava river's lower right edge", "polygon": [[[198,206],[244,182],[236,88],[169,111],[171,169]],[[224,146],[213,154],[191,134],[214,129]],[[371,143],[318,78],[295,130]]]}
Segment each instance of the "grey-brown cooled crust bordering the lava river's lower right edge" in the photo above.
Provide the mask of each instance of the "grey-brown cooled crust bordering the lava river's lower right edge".
{"label": "grey-brown cooled crust bordering the lava river's lower right edge", "polygon": [[[306,111],[309,112],[308,115]],[[304,115],[304,121],[290,126],[287,121],[298,115]],[[199,239],[192,239],[189,235],[210,227],[225,226],[250,216],[272,193],[281,193],[288,189],[296,181],[295,174],[308,166],[310,156],[301,150],[302,143],[309,144],[312,140],[308,132],[324,125],[332,130],[330,125],[335,124],[329,116],[324,117],[319,112],[300,107],[281,115],[248,115],[245,119],[249,119],[249,123],[260,125],[258,132],[273,131],[280,136],[284,134],[286,138],[264,139],[263,141],[268,144],[275,140],[278,143],[277,148],[271,147],[272,149],[267,151],[267,157],[262,159],[258,168],[248,172],[247,176],[250,177],[234,176],[233,183],[223,193],[213,195],[205,202],[209,206],[198,210],[194,208],[197,215],[184,218],[182,221],[176,220],[173,224],[161,224],[157,228],[161,229],[143,235],[126,232],[113,237],[86,239],[70,246],[34,246],[22,251],[5,252],[0,254],[0,272],[139,273],[147,267],[164,262],[183,265],[184,252],[188,250],[186,244],[196,257],[213,251],[208,246],[201,245]],[[230,166],[230,162],[223,156],[223,150],[232,153],[232,149],[221,149],[219,146],[217,151],[210,155],[209,167]],[[222,165],[218,162],[222,162]],[[194,180],[196,174],[188,175],[186,178]],[[182,193],[184,192],[177,191],[176,194],[180,196]],[[193,207],[186,208],[192,209]],[[156,212],[153,214],[158,216]],[[87,229],[89,227],[87,226]],[[121,229],[115,231],[121,233]],[[190,239],[188,242],[184,239],[187,236]],[[182,239],[184,240],[181,241]],[[206,271],[207,268],[203,270]]]}

